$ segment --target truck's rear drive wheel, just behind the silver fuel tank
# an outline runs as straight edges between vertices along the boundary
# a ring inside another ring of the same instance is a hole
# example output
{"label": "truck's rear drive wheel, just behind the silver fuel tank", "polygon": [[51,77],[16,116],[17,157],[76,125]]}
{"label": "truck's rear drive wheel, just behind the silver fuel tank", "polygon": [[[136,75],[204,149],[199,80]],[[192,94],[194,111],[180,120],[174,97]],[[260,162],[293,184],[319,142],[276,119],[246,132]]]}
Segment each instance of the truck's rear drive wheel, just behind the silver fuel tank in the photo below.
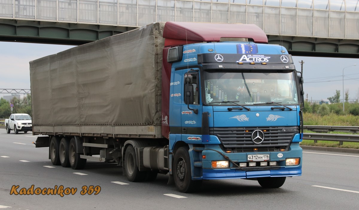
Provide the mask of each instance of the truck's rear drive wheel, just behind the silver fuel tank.
{"label": "truck's rear drive wheel, just behind the silver fuel tank", "polygon": [[125,152],[125,161],[123,162],[125,167],[126,177],[130,182],[138,182],[145,180],[145,172],[139,171],[137,167],[136,152],[132,145],[127,146]]}

